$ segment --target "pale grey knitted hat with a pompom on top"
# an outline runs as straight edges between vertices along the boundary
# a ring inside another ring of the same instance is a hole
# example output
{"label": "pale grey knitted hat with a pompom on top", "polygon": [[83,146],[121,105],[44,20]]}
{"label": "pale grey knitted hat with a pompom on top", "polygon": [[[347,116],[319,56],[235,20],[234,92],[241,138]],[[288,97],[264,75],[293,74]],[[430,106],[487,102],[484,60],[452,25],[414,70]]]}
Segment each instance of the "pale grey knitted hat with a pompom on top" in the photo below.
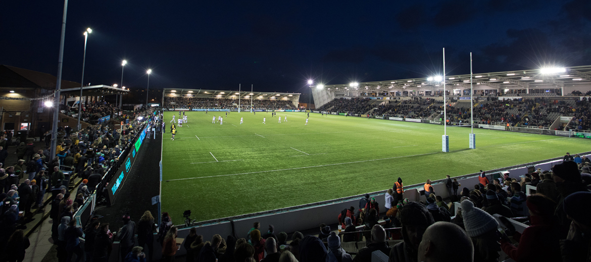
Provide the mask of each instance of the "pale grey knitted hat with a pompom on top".
{"label": "pale grey knitted hat with a pompom on top", "polygon": [[478,237],[499,226],[499,222],[492,215],[480,208],[475,208],[469,200],[462,201],[462,217],[469,237]]}

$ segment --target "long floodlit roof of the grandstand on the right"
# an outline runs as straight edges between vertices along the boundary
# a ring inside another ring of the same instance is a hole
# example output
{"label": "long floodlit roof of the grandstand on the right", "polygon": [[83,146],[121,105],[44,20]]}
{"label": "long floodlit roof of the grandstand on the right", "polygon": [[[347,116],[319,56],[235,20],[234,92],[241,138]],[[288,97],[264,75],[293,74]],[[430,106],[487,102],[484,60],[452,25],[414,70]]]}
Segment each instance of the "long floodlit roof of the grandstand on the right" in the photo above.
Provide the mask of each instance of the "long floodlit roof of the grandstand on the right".
{"label": "long floodlit roof of the grandstand on the right", "polygon": [[[442,76],[427,76],[388,81],[332,84],[324,86],[329,91],[433,91],[443,90]],[[439,80],[439,81],[437,81]],[[470,89],[470,74],[446,76],[446,89]],[[491,89],[560,89],[565,86],[591,85],[591,66],[543,68],[536,70],[504,71],[473,74],[473,87]],[[355,85],[357,84],[357,85]]]}

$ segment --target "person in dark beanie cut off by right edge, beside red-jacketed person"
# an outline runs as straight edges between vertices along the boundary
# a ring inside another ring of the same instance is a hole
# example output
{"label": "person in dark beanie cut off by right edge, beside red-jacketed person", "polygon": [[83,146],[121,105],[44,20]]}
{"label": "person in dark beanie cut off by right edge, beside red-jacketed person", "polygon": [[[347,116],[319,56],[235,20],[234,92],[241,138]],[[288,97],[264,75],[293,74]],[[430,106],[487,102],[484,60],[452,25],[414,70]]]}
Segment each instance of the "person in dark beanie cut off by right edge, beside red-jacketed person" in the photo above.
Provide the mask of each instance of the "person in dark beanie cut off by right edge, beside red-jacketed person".
{"label": "person in dark beanie cut off by right edge, beside red-jacketed person", "polygon": [[569,235],[560,240],[563,262],[589,261],[591,254],[591,220],[589,208],[582,204],[591,203],[591,192],[575,192],[563,200],[564,213],[572,219]]}

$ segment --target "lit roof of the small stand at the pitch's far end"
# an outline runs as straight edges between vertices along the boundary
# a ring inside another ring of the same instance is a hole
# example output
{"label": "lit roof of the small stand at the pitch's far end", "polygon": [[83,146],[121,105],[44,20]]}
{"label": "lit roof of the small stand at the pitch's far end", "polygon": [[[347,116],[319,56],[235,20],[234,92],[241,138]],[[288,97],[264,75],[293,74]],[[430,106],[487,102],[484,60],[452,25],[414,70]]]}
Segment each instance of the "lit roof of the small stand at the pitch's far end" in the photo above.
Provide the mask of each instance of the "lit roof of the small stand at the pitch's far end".
{"label": "lit roof of the small stand at the pitch's far end", "polygon": [[280,97],[287,100],[298,100],[300,93],[280,93],[280,92],[251,92],[251,91],[229,91],[229,90],[205,90],[205,89],[164,89],[164,96],[182,96],[182,97],[203,97],[203,98],[224,98],[238,99],[251,96],[258,99],[270,99],[270,97]]}

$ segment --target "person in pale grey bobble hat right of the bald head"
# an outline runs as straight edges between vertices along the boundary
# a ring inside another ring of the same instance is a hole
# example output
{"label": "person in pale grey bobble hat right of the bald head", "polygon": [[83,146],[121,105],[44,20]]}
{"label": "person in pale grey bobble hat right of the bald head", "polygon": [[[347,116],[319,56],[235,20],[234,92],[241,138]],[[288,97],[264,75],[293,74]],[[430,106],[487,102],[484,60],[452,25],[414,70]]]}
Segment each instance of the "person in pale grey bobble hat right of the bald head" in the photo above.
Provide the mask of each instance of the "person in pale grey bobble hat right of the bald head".
{"label": "person in pale grey bobble hat right of the bald head", "polygon": [[467,200],[462,201],[462,217],[466,233],[474,244],[474,261],[496,261],[501,251],[501,239],[496,230],[499,222]]}

